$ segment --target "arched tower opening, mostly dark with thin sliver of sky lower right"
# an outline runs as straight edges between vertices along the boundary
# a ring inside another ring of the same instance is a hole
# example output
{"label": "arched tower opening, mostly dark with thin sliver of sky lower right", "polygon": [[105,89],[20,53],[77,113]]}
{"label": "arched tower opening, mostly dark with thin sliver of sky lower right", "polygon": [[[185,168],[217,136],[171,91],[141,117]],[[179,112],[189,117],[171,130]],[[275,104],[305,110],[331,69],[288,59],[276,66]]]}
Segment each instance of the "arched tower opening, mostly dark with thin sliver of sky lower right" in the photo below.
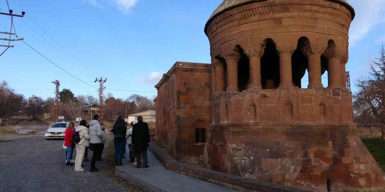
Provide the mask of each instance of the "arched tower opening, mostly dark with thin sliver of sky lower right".
{"label": "arched tower opening, mostly dark with thin sliver of sky lower right", "polygon": [[[291,73],[293,76],[293,84],[299,88],[302,86],[302,79],[305,76],[306,70],[308,70],[308,58],[306,55],[310,49],[310,41],[306,37],[301,37],[298,40],[297,49],[291,56]],[[306,75],[308,77],[308,73]],[[307,79],[304,83],[308,82]]]}

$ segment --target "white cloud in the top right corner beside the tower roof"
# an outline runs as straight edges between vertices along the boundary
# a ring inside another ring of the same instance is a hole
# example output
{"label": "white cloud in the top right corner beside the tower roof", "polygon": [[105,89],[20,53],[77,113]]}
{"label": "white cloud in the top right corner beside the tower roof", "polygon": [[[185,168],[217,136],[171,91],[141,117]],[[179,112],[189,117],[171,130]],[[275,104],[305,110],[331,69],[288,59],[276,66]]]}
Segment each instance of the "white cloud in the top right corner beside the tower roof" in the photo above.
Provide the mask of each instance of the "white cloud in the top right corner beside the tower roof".
{"label": "white cloud in the top right corner beside the tower roof", "polygon": [[379,22],[382,22],[383,7],[385,0],[350,0],[349,3],[355,8],[356,17],[352,22],[349,32],[349,43],[354,46],[357,41],[365,38],[368,32]]}

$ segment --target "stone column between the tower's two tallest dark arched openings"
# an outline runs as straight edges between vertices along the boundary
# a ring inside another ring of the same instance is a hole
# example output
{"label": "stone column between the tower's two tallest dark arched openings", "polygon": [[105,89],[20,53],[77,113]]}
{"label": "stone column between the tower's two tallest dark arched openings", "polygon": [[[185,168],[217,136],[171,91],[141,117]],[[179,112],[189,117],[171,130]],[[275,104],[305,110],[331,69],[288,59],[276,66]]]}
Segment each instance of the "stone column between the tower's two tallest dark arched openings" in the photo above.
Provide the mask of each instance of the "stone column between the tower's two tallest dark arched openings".
{"label": "stone column between the tower's two tallest dark arched openings", "polygon": [[291,43],[277,44],[277,52],[280,56],[280,88],[293,86],[291,55],[295,50],[296,46],[291,45]]}

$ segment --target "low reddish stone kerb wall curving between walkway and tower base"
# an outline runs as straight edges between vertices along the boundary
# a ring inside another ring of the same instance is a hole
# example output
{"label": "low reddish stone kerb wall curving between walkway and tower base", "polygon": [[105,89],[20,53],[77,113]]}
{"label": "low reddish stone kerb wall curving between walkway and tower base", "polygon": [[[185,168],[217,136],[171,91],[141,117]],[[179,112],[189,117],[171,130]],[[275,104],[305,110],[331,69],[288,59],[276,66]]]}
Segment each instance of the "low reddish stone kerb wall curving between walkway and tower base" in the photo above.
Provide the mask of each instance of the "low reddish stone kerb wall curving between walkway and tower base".
{"label": "low reddish stone kerb wall curving between walkway and tower base", "polygon": [[210,169],[190,166],[176,161],[169,154],[164,152],[154,142],[149,146],[149,150],[154,156],[161,161],[167,169],[180,174],[188,175],[202,180],[229,187],[239,191],[256,191],[256,192],[308,192],[294,187],[284,185],[271,184],[258,181],[255,179],[240,177],[237,175],[226,174]]}

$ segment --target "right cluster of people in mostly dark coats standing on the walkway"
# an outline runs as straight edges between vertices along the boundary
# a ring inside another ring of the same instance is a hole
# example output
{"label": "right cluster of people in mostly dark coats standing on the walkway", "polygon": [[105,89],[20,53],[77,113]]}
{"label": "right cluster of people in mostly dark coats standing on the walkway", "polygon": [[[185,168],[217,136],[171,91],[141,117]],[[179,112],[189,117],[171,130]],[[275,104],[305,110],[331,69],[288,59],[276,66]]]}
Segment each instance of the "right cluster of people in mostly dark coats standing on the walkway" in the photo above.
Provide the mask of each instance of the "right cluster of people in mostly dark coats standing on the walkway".
{"label": "right cluster of people in mostly dark coats standing on the walkway", "polygon": [[[128,127],[124,119],[119,116],[111,129],[114,133],[115,164],[122,166],[122,159],[126,152],[126,144],[129,146],[130,160],[137,168],[142,167],[141,157],[143,157],[143,168],[150,167],[147,160],[147,147],[150,145],[150,132],[148,124],[143,122],[143,117],[139,116],[137,122],[131,122]],[[136,161],[135,161],[136,157]]]}

